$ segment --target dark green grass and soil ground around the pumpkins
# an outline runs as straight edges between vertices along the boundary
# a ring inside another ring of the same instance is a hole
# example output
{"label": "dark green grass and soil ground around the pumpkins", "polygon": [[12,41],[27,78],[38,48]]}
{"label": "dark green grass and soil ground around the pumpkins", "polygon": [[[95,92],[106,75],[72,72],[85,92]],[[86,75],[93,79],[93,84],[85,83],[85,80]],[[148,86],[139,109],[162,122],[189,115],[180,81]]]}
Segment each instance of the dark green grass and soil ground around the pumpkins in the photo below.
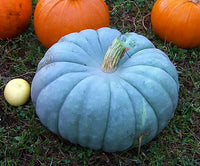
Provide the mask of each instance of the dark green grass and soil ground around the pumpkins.
{"label": "dark green grass and soil ground around the pumpkins", "polygon": [[[37,0],[32,1],[35,6]],[[179,72],[179,104],[169,125],[140,153],[105,153],[73,145],[43,127],[31,100],[12,107],[3,97],[6,83],[21,77],[31,83],[44,48],[27,30],[10,40],[0,40],[0,165],[199,165],[200,164],[200,47],[180,49],[161,41],[153,32],[150,12],[154,1],[106,0],[111,27],[148,37],[168,54]]]}

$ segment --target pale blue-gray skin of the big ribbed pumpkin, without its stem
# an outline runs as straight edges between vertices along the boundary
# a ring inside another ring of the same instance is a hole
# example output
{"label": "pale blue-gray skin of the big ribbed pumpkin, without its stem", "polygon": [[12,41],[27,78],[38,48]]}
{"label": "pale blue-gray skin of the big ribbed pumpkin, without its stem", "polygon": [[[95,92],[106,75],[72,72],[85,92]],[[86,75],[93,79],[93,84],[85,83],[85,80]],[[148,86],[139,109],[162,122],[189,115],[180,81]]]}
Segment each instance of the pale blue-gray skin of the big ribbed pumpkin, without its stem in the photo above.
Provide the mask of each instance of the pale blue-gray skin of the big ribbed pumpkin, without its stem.
{"label": "pale blue-gray skin of the big ribbed pumpkin, without its stem", "polygon": [[[116,37],[129,50],[115,72],[105,73],[101,64]],[[38,65],[31,97],[53,133],[114,152],[152,140],[173,117],[178,90],[176,68],[147,38],[101,28],[54,44]]]}

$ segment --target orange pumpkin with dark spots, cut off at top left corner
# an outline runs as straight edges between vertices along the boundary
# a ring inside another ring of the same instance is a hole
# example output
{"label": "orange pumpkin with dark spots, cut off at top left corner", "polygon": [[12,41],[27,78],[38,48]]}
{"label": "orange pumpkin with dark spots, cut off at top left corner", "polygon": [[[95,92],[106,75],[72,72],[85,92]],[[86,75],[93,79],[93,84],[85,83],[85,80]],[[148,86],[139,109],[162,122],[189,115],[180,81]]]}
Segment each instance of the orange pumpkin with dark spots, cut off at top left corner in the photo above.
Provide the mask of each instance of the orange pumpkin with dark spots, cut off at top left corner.
{"label": "orange pumpkin with dark spots, cut off at top left corner", "polygon": [[31,0],[0,0],[0,38],[21,34],[27,28],[31,15]]}

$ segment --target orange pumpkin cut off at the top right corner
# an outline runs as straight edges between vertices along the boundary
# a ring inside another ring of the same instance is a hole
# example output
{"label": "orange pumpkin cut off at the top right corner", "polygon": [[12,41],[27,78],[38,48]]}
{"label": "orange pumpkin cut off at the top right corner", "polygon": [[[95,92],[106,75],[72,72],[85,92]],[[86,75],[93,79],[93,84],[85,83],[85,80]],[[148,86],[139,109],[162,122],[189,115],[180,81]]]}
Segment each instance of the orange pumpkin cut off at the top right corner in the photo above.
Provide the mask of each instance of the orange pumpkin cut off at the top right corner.
{"label": "orange pumpkin cut off at the top right corner", "polygon": [[151,12],[155,33],[180,48],[200,45],[200,1],[157,0]]}

